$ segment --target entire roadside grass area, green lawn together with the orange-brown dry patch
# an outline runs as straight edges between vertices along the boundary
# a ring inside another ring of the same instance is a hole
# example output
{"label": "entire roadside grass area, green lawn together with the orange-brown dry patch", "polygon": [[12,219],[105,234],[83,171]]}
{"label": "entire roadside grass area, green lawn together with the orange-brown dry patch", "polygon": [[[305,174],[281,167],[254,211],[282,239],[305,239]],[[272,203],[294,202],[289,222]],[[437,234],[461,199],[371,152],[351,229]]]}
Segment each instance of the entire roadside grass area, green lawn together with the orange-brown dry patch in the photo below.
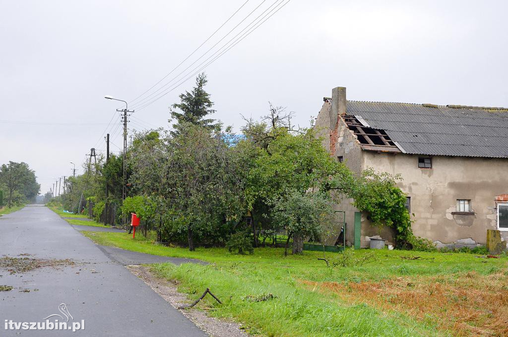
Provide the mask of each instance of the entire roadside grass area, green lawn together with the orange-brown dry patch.
{"label": "entire roadside grass area, green lawn together with the orange-brown dry patch", "polygon": [[[223,301],[200,302],[209,314],[269,336],[507,335],[508,258],[468,253],[374,251],[362,266],[327,267],[322,252],[283,257],[282,248],[236,255],[224,248],[152,244],[140,235],[83,233],[102,245],[209,265],[155,264],[152,270],[198,298],[208,287]],[[354,252],[356,258],[371,250]],[[342,253],[327,253],[330,262]],[[418,259],[411,259],[419,256]],[[409,258],[409,259],[408,259]],[[261,300],[267,294],[275,298]]]}

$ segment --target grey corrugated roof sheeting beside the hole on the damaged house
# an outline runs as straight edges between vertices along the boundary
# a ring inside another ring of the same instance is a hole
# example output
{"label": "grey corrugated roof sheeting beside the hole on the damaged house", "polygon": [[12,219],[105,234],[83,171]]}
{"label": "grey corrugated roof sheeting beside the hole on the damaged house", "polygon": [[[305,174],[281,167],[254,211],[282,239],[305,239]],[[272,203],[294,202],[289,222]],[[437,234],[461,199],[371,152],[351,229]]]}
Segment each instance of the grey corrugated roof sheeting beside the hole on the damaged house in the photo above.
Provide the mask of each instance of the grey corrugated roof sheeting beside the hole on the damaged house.
{"label": "grey corrugated roof sheeting beside the hole on the damaged house", "polygon": [[508,158],[508,111],[347,101],[346,112],[385,130],[402,152]]}

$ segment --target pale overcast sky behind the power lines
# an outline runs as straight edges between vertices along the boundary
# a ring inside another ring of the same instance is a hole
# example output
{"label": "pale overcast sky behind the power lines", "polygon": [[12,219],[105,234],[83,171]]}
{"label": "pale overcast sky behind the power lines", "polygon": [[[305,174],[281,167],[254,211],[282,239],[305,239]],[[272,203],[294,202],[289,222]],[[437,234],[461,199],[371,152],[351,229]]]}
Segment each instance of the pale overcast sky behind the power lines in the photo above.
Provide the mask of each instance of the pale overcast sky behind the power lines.
{"label": "pale overcast sky behind the power lines", "polygon": [[[274,1],[249,0],[131,104],[136,113],[129,127],[167,127],[168,107],[194,79],[173,84],[193,75]],[[119,151],[120,128],[107,124],[120,122],[115,109],[122,104],[104,95],[131,102],[244,2],[0,0],[0,163],[27,162],[44,193],[53,178],[71,174],[71,161],[81,173],[91,147],[103,153],[104,133],[112,134],[111,150]],[[355,100],[507,107],[507,11],[505,1],[291,0],[206,67],[214,117],[238,129],[240,114],[258,118],[270,101],[308,125],[336,86],[347,87],[347,98]],[[142,100],[245,17],[176,82]]]}

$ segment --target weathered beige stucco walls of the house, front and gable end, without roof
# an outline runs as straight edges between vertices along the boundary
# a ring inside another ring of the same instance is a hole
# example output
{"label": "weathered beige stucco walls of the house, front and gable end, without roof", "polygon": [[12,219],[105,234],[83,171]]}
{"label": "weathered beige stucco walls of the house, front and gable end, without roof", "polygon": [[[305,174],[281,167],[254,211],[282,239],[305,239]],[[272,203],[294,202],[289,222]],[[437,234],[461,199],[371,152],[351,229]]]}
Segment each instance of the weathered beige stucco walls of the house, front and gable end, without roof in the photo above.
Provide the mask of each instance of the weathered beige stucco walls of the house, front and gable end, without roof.
{"label": "weathered beige stucco walls of the house, front and gable end, without roof", "polygon": [[[331,156],[343,160],[357,174],[369,167],[377,172],[400,174],[402,181],[398,186],[410,197],[415,235],[432,240],[438,247],[485,245],[487,229],[498,228],[496,196],[508,193],[508,159],[365,150],[342,118],[346,113],[345,104],[334,105],[334,99],[345,102],[345,88],[343,95],[337,92],[325,99],[315,121],[323,146]],[[343,111],[334,107],[343,107]],[[420,168],[419,157],[431,158],[432,167]],[[470,212],[458,212],[458,199],[470,200]],[[350,244],[354,240],[353,224],[358,212],[351,201],[342,200],[336,206],[337,210],[345,211],[346,240]],[[501,233],[508,237],[508,231]],[[368,246],[368,237],[376,234],[377,228],[362,214],[361,246]],[[381,236],[393,242],[390,228],[385,228]]]}

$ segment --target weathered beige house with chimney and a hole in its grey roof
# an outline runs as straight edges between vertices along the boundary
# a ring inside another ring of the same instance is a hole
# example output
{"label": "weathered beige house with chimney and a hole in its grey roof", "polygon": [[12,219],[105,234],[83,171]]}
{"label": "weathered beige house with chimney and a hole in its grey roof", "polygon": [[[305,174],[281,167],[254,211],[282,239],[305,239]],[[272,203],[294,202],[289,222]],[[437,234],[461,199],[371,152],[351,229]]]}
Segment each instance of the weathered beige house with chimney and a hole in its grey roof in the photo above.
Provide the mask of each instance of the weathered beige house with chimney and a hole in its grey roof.
{"label": "weathered beige house with chimney and a hole in its grey roof", "polygon": [[[400,174],[415,235],[437,247],[485,245],[487,229],[508,238],[508,109],[346,100],[332,90],[316,118],[324,146],[360,173]],[[351,200],[350,200],[351,201]],[[377,234],[344,200],[346,240],[367,247]],[[393,242],[391,228],[383,239]]]}

